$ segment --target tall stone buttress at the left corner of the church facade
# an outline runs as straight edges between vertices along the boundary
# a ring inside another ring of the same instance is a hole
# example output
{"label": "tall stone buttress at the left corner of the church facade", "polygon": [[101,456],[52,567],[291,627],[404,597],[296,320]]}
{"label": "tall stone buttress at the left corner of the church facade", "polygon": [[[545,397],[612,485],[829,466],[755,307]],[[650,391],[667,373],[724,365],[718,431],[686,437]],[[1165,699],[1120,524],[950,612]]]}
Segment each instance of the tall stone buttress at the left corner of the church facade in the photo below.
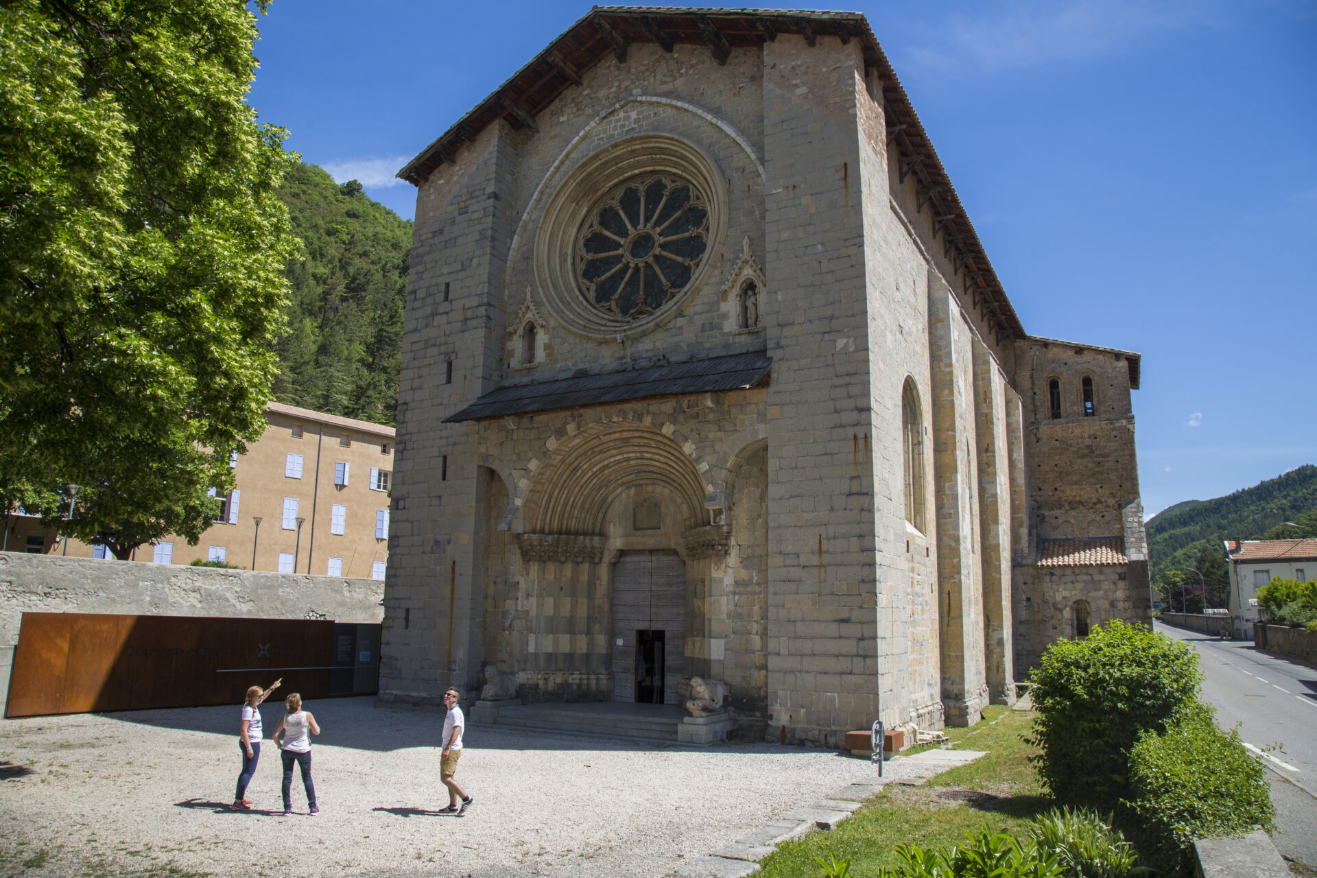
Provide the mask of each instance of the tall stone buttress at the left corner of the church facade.
{"label": "tall stone buttress at the left corner of the church facade", "polygon": [[[511,187],[508,129],[421,190],[411,254],[390,520],[381,698],[439,704],[479,679],[475,428],[443,419],[495,386]],[[464,154],[466,151],[464,150]],[[475,657],[473,663],[473,657]]]}

